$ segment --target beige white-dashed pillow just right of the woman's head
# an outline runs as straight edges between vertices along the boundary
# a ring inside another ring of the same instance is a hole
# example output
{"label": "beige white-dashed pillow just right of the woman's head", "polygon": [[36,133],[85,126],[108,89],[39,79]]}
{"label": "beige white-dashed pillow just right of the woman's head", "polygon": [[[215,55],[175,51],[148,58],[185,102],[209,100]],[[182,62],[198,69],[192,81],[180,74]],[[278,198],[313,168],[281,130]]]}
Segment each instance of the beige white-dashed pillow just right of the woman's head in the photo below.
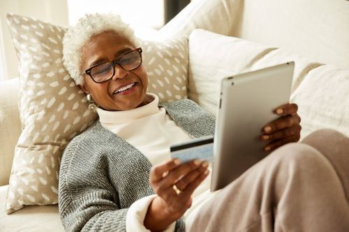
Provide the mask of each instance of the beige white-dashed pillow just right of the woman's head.
{"label": "beige white-dashed pillow just right of the woman's head", "polygon": [[188,38],[143,41],[142,48],[148,91],[161,102],[187,98]]}

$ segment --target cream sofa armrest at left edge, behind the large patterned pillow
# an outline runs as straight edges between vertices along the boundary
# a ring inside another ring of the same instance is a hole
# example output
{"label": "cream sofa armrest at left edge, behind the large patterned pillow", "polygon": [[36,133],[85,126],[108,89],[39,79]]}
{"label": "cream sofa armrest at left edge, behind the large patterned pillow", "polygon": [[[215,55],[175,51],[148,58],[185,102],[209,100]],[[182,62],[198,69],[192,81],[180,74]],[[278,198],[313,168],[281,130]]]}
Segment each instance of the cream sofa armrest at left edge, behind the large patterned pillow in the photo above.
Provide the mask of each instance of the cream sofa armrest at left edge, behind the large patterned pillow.
{"label": "cream sofa armrest at left edge, behind the large patterned pillow", "polygon": [[15,145],[21,133],[19,88],[18,78],[0,82],[0,185],[8,184]]}

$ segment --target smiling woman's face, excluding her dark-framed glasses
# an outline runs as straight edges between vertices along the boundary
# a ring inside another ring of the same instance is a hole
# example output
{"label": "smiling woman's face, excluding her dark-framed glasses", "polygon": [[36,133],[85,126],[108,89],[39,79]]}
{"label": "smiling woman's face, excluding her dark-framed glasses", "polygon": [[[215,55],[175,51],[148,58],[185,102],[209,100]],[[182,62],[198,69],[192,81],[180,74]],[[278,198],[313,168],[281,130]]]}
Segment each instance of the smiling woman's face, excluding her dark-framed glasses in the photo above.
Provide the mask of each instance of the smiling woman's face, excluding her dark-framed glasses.
{"label": "smiling woman's face, excluding her dark-framed glasses", "polygon": [[[92,37],[82,47],[82,65],[80,71],[91,68],[96,64],[119,59],[119,57],[135,49],[130,41],[117,33],[107,31]],[[118,91],[125,86],[133,86],[126,91]],[[89,75],[84,74],[84,84],[81,86],[85,93],[90,93],[96,104],[108,111],[127,110],[147,104],[147,72],[143,65],[135,70],[126,71],[115,65],[112,79],[103,83],[94,82]]]}

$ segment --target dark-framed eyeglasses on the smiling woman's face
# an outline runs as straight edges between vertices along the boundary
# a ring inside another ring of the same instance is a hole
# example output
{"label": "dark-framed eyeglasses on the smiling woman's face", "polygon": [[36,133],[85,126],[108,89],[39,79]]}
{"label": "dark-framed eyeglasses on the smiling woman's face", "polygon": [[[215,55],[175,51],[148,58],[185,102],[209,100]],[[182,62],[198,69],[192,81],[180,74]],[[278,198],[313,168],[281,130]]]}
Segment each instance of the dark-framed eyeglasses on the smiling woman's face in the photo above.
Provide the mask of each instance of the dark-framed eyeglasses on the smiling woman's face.
{"label": "dark-framed eyeglasses on the smiling woman's face", "polygon": [[94,82],[107,82],[115,74],[115,65],[119,65],[125,71],[135,70],[142,64],[142,48],[138,47],[122,54],[119,59],[107,63],[100,63],[85,70]]}

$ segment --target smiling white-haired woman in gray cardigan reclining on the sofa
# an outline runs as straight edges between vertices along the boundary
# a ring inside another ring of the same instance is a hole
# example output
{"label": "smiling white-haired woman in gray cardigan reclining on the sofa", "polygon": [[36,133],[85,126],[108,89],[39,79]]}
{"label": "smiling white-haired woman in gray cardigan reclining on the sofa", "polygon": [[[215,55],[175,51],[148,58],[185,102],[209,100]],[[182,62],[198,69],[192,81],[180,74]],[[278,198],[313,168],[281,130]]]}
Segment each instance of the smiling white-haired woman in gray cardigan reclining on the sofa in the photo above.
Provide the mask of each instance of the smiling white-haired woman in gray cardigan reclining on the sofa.
{"label": "smiling white-haired woman in gray cardigan reclining on the sofa", "polygon": [[[64,37],[64,65],[99,116],[61,160],[59,212],[67,231],[348,229],[349,173],[339,161],[349,141],[322,131],[306,139],[310,146],[282,146],[299,140],[296,105],[276,109],[279,120],[262,130],[265,150],[282,147],[210,193],[209,164],[181,164],[169,147],[214,134],[214,118],[191,100],[159,103],[147,93],[142,48],[127,24],[86,15]],[[322,146],[326,134],[335,152]]]}

